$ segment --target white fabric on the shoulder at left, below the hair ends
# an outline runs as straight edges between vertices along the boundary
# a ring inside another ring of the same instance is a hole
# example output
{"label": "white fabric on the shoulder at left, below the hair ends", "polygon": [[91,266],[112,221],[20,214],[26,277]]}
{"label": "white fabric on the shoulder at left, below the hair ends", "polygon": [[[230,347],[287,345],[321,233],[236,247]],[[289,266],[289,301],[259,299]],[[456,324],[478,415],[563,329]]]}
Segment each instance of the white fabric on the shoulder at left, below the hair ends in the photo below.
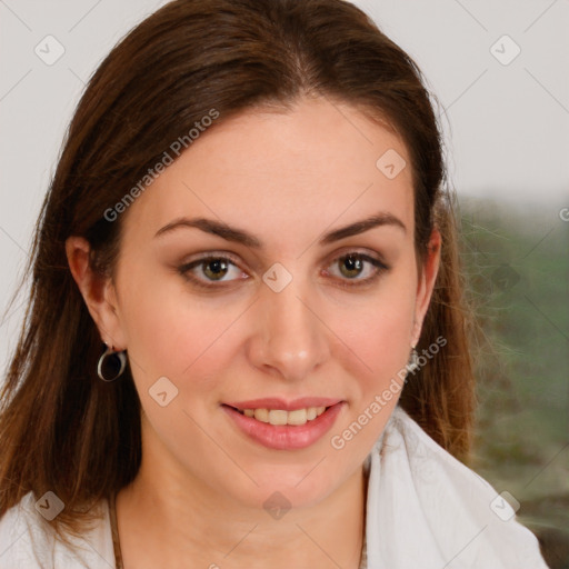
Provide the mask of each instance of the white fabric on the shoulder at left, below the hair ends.
{"label": "white fabric on the shoulder at left, below the hair ends", "polygon": [[40,503],[49,511],[49,501],[36,500],[29,492],[0,518],[0,569],[114,568],[106,500],[98,505],[100,517],[91,530],[81,539],[69,538],[72,548],[57,538],[40,513]]}

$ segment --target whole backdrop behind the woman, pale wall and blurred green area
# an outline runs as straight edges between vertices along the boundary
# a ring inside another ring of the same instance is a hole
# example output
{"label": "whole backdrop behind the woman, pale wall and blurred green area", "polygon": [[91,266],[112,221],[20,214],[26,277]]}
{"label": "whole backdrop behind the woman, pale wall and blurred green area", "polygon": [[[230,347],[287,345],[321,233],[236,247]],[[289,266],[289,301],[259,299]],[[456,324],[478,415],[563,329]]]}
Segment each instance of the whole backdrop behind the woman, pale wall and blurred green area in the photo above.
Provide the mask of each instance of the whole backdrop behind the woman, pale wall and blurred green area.
{"label": "whole backdrop behind the woman, pale wall and blurred green area", "polygon": [[[0,0],[0,310],[84,83],[163,1]],[[569,2],[356,1],[418,63],[483,329],[472,467],[569,568]],[[23,317],[0,327],[4,375]]]}

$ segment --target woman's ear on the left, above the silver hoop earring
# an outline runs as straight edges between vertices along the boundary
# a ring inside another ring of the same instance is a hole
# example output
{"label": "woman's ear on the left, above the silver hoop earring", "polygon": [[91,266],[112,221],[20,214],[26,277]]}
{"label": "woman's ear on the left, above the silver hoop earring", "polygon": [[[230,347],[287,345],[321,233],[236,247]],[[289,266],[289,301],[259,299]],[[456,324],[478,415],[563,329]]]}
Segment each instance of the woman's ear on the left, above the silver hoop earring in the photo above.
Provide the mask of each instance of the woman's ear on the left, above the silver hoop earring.
{"label": "woman's ear on the left, above the silver hoop earring", "polygon": [[71,274],[83,297],[101,339],[113,350],[124,350],[126,341],[117,310],[117,295],[110,278],[96,273],[89,262],[90,243],[82,237],[66,241],[66,253]]}

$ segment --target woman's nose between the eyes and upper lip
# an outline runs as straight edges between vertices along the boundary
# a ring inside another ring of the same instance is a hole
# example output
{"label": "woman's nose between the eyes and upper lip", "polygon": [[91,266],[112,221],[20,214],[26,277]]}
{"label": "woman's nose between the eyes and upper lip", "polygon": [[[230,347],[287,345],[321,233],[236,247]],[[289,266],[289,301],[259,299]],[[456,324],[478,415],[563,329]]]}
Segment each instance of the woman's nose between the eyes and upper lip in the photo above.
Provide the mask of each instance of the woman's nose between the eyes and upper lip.
{"label": "woman's nose between the eyes and upper lip", "polygon": [[309,377],[330,356],[331,332],[315,297],[300,279],[292,279],[280,292],[263,286],[260,296],[248,349],[251,363],[289,381]]}

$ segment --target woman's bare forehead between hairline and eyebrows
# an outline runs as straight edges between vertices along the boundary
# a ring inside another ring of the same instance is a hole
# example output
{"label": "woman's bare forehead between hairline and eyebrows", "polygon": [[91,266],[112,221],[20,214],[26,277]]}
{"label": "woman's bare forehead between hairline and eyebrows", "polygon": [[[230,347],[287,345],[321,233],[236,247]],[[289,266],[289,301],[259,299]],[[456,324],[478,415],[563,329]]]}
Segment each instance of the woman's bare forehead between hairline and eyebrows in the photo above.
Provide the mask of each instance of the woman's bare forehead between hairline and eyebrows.
{"label": "woman's bare forehead between hairline and eyebrows", "polygon": [[267,242],[302,241],[381,210],[412,228],[403,142],[353,107],[319,98],[212,126],[137,198],[124,221],[138,239],[199,216]]}

